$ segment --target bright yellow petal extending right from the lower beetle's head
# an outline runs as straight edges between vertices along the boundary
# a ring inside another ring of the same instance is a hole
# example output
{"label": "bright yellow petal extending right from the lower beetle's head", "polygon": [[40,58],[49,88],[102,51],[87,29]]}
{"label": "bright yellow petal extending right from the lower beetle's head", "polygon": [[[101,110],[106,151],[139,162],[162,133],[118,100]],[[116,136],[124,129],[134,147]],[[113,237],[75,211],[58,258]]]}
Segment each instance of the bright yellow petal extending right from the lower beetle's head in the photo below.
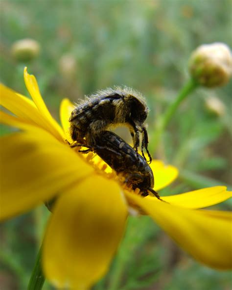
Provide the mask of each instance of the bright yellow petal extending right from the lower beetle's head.
{"label": "bright yellow petal extending right from the lower beetle's head", "polygon": [[166,202],[188,209],[201,209],[221,203],[232,196],[226,186],[202,188],[182,194],[163,196]]}

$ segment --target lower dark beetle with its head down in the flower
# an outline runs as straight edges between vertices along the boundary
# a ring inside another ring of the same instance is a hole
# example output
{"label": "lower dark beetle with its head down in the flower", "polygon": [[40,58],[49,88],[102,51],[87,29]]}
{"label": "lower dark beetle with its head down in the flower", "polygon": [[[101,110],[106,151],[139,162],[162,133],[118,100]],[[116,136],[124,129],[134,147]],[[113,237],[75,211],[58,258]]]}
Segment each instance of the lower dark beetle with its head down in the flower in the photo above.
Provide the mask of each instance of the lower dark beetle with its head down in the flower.
{"label": "lower dark beetle with its head down in the flower", "polygon": [[[142,196],[147,196],[148,191],[158,199],[159,194],[153,189],[154,176],[149,164],[120,136],[111,131],[101,132],[95,139],[96,145],[87,150],[79,150],[83,153],[94,151],[117,174],[125,178],[125,183],[134,190],[138,187]],[[78,146],[75,145],[75,146]],[[88,148],[88,147],[87,147]]]}

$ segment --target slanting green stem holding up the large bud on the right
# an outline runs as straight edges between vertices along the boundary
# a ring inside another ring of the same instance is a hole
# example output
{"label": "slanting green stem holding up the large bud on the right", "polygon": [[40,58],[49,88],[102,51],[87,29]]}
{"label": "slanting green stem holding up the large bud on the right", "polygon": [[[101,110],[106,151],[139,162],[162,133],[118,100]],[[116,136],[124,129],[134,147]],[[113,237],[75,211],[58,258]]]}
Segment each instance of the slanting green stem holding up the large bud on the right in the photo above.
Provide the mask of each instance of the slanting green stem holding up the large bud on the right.
{"label": "slanting green stem holding up the large bud on the right", "polygon": [[179,105],[186,99],[186,97],[194,91],[194,89],[198,86],[194,79],[189,79],[186,85],[182,88],[179,95],[176,97],[175,101],[169,105],[165,113],[162,115],[162,119],[160,120],[159,124],[157,125],[157,129],[154,132],[153,140],[152,140],[152,147],[153,150],[157,148],[160,143],[160,139],[162,134],[167,127],[168,123],[170,122],[171,118],[175,114]]}

